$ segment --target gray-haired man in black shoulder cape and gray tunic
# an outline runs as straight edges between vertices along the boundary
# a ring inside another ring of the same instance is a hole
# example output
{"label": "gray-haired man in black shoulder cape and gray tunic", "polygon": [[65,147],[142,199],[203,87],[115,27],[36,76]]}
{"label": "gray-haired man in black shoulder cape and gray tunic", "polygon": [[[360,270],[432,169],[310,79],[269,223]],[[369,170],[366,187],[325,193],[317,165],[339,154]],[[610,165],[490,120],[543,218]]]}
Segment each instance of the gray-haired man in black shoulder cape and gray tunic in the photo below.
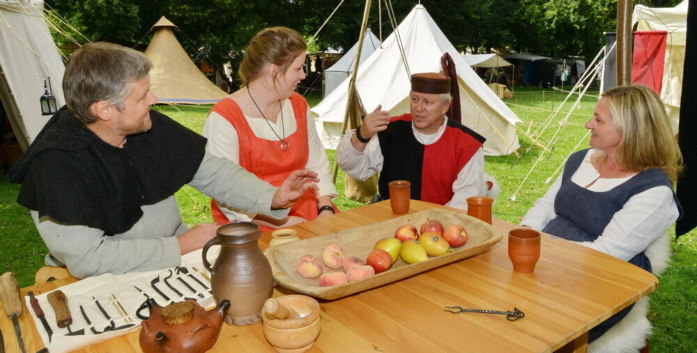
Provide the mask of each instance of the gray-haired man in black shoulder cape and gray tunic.
{"label": "gray-haired man in black shoulder cape and gray tunic", "polygon": [[181,219],[174,193],[189,184],[240,209],[283,218],[316,174],[279,188],[206,152],[206,139],[158,112],[151,61],[109,43],[84,45],[66,65],[66,107],[9,172],[49,248],[45,262],[72,276],[162,269],[215,236]]}

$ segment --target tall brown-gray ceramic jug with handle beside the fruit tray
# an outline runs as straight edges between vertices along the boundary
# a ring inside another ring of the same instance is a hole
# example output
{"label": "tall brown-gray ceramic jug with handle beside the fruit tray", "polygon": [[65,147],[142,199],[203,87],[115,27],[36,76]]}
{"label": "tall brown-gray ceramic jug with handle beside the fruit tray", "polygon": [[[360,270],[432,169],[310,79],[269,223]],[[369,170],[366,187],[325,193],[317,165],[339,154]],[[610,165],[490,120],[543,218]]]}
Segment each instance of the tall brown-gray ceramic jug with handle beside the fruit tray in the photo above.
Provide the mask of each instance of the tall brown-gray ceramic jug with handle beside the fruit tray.
{"label": "tall brown-gray ceramic jug with handle beside the fruit tray", "polygon": [[[210,271],[213,297],[218,303],[230,301],[230,310],[225,315],[227,324],[243,326],[259,322],[261,307],[271,297],[271,265],[259,249],[259,237],[259,225],[230,223],[218,228],[215,238],[204,246],[204,266]],[[211,267],[206,253],[216,245],[221,246],[220,255]]]}

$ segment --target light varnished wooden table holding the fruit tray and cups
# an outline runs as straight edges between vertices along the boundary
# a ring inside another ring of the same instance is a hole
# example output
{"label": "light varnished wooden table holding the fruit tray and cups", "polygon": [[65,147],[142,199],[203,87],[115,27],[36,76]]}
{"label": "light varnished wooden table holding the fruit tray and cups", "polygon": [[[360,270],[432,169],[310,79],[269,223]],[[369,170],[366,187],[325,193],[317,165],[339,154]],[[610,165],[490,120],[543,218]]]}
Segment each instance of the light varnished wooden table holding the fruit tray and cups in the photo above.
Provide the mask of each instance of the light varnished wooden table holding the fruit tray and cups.
{"label": "light varnished wooden table holding the fruit tray and cups", "polygon": [[[410,212],[443,207],[412,201]],[[328,234],[397,217],[389,202],[337,213],[295,228],[301,238]],[[615,257],[543,234],[534,273],[516,273],[506,234],[516,227],[494,220],[504,235],[480,255],[420,273],[389,285],[334,301],[320,301],[322,330],[309,352],[584,352],[588,330],[656,289],[658,280]],[[259,241],[266,248],[270,234]],[[74,282],[59,280],[22,289],[48,292]],[[274,296],[291,294],[276,287]],[[526,316],[452,314],[443,306],[512,310]],[[18,352],[10,320],[0,314],[7,352]],[[26,307],[24,312],[27,313]],[[27,352],[43,348],[31,315],[20,317]],[[138,333],[86,347],[79,352],[139,351]],[[270,352],[261,323],[223,325],[209,352]]]}

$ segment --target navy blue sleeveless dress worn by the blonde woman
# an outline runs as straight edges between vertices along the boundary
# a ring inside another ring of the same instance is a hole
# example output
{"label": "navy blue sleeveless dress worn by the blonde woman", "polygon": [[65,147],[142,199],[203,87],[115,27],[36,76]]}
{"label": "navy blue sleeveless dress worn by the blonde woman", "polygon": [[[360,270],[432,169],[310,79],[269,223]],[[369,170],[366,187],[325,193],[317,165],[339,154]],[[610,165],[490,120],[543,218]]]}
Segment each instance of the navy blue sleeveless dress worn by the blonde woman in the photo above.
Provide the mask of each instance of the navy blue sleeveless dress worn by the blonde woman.
{"label": "navy blue sleeveless dress worn by the blonde woman", "polygon": [[[620,211],[632,196],[656,186],[672,188],[670,179],[662,170],[651,169],[634,175],[611,190],[604,192],[588,190],[583,186],[576,185],[571,180],[587,154],[588,149],[584,149],[569,156],[569,160],[564,166],[561,186],[554,199],[556,217],[547,223],[542,232],[571,241],[595,241],[610,223],[615,213]],[[677,204],[680,213],[678,219],[680,219],[682,207],[677,201],[675,193],[673,193],[673,200]],[[646,271],[651,271],[651,262],[643,252],[632,257],[629,263]],[[629,313],[632,306],[634,304],[591,329],[588,332],[588,342],[599,338],[608,329],[620,322]]]}

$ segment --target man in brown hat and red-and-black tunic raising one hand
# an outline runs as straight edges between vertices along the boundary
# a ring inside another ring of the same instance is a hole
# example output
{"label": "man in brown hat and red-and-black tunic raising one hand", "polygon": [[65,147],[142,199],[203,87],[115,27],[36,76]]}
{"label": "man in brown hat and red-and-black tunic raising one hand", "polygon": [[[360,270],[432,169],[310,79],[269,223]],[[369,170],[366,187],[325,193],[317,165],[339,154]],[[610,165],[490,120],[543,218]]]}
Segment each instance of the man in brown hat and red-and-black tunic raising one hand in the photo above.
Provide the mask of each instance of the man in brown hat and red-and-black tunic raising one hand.
{"label": "man in brown hat and red-and-black tunic raising one hand", "polygon": [[484,137],[445,116],[450,100],[450,77],[412,75],[411,114],[390,117],[378,105],[342,137],[337,163],[358,180],[380,172],[383,199],[390,181],[408,180],[414,200],[467,209],[468,197],[485,192]]}

